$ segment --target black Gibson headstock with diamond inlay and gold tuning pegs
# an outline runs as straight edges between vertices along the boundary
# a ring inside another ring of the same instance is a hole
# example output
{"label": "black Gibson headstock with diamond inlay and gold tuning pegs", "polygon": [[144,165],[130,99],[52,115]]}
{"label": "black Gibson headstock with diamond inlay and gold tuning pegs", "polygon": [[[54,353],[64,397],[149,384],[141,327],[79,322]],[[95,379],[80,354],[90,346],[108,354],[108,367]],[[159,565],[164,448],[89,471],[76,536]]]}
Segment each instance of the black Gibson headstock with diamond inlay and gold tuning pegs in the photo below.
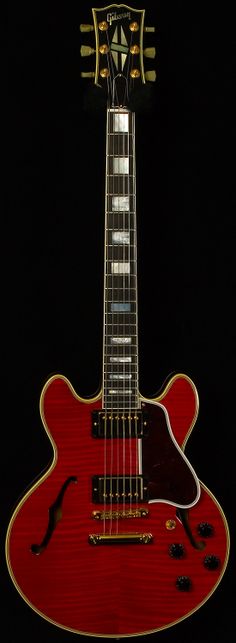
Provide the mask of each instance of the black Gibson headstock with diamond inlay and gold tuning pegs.
{"label": "black Gibson headstock with diamond inlay and gold tuning pegs", "polygon": [[154,27],[144,26],[145,9],[112,4],[92,9],[93,25],[80,25],[82,33],[95,32],[95,48],[81,46],[81,56],[96,56],[94,71],[84,71],[83,78],[94,78],[97,86],[106,91],[110,106],[128,106],[133,89],[146,81],[154,81],[156,72],[144,70],[144,56],[155,57],[155,48],[143,48],[145,32]]}

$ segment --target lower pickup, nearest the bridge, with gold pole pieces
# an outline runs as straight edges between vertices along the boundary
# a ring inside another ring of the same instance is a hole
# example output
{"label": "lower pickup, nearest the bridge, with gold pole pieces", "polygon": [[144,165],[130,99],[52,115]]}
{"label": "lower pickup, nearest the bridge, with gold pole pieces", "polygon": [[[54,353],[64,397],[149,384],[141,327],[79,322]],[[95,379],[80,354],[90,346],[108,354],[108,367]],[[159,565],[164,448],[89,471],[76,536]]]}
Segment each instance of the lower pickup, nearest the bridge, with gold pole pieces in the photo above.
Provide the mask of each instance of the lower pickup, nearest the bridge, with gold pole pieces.
{"label": "lower pickup, nearest the bridge, with gold pole pieces", "polygon": [[92,500],[95,504],[148,501],[148,483],[143,476],[93,476]]}

